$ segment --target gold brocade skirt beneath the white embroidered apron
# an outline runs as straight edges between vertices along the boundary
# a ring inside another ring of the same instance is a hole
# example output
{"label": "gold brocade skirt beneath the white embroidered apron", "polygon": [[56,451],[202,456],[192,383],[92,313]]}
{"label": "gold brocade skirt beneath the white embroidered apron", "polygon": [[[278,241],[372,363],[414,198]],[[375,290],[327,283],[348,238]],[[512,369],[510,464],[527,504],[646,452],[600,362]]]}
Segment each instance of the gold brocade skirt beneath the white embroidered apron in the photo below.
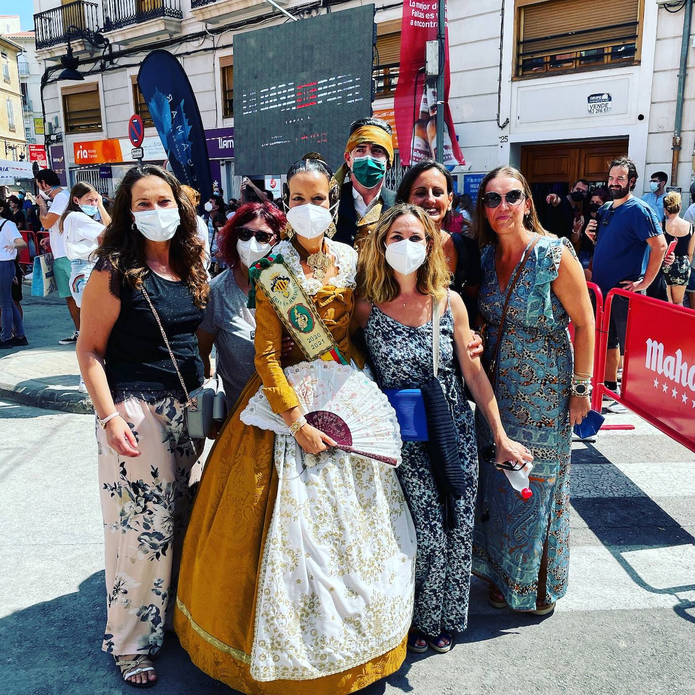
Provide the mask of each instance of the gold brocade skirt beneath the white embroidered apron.
{"label": "gold brocade skirt beneath the white embroidered apron", "polygon": [[250,673],[261,556],[277,496],[275,435],[244,425],[255,375],[208,457],[183,543],[174,628],[193,663],[247,694],[341,695],[397,671],[406,637],[359,667],[313,680],[259,682]]}

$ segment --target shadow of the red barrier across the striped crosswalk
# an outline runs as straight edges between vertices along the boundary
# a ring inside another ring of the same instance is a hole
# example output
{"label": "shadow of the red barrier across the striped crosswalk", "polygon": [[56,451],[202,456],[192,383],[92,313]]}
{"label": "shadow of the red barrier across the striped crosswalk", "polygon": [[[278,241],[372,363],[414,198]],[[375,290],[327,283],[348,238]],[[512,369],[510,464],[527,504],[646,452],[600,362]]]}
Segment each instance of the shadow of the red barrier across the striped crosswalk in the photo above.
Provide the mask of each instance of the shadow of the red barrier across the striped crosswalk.
{"label": "shadow of the red barrier across the striped crosswalk", "polygon": [[[582,466],[582,463],[599,465]],[[637,586],[652,594],[673,596],[677,604],[673,607],[676,614],[695,623],[695,616],[687,613],[695,607],[695,602],[676,595],[695,591],[695,582],[674,587],[654,587],[625,556],[626,553],[635,552],[636,548],[641,551],[693,546],[695,537],[593,445],[587,444],[586,452],[573,451],[572,464],[572,487],[581,489],[591,486],[594,489],[591,496],[571,497],[575,512],[584,519]]]}

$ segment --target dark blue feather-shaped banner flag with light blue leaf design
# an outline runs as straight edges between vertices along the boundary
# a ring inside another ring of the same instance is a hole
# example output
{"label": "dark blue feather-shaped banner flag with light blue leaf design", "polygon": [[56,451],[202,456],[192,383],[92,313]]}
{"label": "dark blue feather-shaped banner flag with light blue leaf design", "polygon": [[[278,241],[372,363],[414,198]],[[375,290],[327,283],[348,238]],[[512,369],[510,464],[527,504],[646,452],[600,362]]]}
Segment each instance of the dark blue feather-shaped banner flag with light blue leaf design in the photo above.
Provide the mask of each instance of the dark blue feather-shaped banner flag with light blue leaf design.
{"label": "dark blue feather-shaped banner flag with light blue leaf design", "polygon": [[138,85],[174,176],[205,199],[213,188],[208,149],[200,111],[183,67],[167,51],[152,51],[140,65]]}

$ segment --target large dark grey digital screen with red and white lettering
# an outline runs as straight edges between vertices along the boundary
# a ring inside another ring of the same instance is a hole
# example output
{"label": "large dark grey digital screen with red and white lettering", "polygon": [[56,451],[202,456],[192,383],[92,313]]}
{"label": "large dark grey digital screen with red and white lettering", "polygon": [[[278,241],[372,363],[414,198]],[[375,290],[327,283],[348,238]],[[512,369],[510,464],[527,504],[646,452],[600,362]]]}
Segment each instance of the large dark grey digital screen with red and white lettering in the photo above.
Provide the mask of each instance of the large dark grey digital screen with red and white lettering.
{"label": "large dark grey digital screen with red and white lettering", "polygon": [[281,174],[306,152],[335,170],[371,115],[374,6],[234,37],[234,170]]}

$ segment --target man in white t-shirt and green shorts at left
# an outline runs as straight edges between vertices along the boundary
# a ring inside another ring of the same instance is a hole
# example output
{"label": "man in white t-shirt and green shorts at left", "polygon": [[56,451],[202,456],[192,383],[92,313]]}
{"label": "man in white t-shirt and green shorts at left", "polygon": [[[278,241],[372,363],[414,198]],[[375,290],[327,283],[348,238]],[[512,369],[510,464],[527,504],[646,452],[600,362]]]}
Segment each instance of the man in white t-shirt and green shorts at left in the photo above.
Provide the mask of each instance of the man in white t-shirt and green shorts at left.
{"label": "man in white t-shirt and green shorts at left", "polygon": [[[80,310],[70,292],[70,259],[65,252],[65,236],[60,234],[58,220],[70,203],[70,191],[60,186],[58,174],[52,169],[42,169],[36,174],[36,185],[39,189],[39,219],[44,229],[50,234],[51,253],[53,254],[53,274],[56,279],[58,295],[67,302],[72,322],[75,325],[72,336],[58,341],[60,345],[74,345],[80,332]],[[51,201],[51,207],[48,206]],[[42,240],[46,249],[46,243]]]}

